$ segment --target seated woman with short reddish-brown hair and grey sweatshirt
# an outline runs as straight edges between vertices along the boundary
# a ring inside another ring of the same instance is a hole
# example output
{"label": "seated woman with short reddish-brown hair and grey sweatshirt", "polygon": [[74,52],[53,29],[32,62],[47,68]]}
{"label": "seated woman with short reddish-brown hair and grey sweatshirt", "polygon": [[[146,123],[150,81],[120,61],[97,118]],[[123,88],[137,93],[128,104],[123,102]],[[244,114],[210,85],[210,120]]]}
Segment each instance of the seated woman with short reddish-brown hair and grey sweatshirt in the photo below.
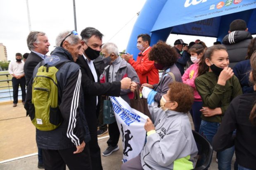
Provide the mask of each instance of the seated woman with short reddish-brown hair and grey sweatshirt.
{"label": "seated woman with short reddish-brown hair and grey sweatshirt", "polygon": [[145,123],[147,142],[135,158],[121,170],[191,170],[197,155],[187,112],[194,101],[192,88],[180,82],[170,83],[162,96],[161,108],[149,105],[152,121]]}

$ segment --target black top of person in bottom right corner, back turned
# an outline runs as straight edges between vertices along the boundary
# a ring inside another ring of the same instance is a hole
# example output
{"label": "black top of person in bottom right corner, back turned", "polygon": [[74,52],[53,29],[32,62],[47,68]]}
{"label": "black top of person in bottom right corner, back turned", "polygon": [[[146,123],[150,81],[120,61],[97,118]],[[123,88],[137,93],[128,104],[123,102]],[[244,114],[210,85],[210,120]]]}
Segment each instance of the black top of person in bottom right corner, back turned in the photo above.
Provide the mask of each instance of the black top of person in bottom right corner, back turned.
{"label": "black top of person in bottom right corner, back turned", "polygon": [[[256,127],[251,125],[249,116],[255,100],[256,91],[234,98],[213,137],[215,151],[223,151],[235,144],[237,163],[253,170],[256,170]],[[234,138],[235,129],[237,131]]]}

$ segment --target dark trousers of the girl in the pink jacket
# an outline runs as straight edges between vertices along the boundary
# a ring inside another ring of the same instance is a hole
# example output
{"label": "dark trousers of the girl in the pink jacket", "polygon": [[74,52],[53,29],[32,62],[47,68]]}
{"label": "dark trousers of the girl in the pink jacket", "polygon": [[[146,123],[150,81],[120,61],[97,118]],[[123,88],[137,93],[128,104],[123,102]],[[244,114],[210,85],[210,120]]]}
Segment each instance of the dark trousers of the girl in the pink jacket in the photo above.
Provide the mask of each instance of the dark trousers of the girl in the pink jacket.
{"label": "dark trousers of the girl in the pink jacket", "polygon": [[200,109],[202,108],[203,102],[194,101],[192,105],[192,109],[190,110],[190,114],[193,119],[194,123],[194,131],[199,132],[199,128],[201,125],[201,112]]}

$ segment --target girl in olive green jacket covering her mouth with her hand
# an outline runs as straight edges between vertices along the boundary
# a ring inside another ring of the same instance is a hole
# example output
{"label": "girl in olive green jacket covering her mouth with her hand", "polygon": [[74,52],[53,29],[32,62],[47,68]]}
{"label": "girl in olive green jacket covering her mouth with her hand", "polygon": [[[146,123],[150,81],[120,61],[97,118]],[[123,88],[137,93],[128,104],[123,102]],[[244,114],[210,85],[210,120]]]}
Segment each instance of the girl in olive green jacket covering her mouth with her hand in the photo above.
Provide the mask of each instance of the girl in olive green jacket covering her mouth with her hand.
{"label": "girl in olive green jacket covering her mouth with her hand", "polygon": [[[195,79],[197,91],[203,100],[199,133],[210,143],[228,105],[233,98],[242,94],[239,81],[228,65],[229,56],[223,45],[209,47],[199,63],[199,77]],[[218,152],[219,170],[231,170],[234,151],[234,147],[231,147]]]}

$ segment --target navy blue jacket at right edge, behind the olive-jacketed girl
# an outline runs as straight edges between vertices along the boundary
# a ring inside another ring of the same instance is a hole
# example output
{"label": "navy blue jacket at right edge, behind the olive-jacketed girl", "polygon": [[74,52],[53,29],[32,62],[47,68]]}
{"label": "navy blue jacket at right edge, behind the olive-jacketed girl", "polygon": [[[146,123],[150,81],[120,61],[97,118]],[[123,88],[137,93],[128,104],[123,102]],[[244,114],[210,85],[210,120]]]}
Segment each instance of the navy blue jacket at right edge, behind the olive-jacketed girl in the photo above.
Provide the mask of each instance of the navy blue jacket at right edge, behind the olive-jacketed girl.
{"label": "navy blue jacket at right edge, behind the olive-jacketed girl", "polygon": [[249,83],[249,74],[251,72],[250,60],[237,63],[233,68],[233,72],[239,80],[243,93],[253,93],[254,87]]}

